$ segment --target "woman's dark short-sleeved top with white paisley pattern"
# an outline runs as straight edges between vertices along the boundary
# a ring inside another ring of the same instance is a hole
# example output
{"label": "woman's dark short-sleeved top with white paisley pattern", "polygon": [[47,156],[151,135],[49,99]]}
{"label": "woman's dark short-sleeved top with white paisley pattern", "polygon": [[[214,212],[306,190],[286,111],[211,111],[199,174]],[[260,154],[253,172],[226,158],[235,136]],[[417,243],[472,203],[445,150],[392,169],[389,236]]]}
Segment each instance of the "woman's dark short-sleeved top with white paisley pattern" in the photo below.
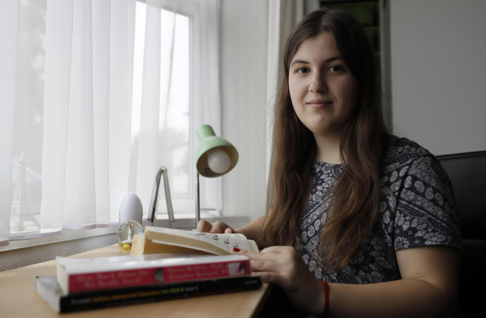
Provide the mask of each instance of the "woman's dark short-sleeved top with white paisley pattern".
{"label": "woman's dark short-sleeved top with white paisley pattern", "polygon": [[380,211],[369,241],[342,271],[326,270],[316,251],[329,208],[323,196],[341,171],[341,165],[313,162],[313,188],[296,248],[317,279],[349,284],[398,280],[395,251],[427,245],[462,248],[449,177],[429,151],[398,138],[385,155]]}

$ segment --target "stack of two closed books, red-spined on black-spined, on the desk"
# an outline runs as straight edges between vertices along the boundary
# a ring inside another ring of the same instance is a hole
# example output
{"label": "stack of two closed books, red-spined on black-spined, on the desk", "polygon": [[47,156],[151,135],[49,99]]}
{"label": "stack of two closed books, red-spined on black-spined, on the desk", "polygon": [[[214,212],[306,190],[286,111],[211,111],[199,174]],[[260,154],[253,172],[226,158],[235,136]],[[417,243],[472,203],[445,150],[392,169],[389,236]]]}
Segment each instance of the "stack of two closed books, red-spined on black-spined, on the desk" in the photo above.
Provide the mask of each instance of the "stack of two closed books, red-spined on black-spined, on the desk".
{"label": "stack of two closed books, red-spined on black-spined, on the desk", "polygon": [[[176,232],[182,236],[190,235],[192,239],[205,236],[195,233]],[[178,242],[185,242],[184,249],[192,249],[187,240]],[[182,247],[178,243],[157,243],[161,246],[172,244],[174,247]],[[194,251],[206,253],[200,248]],[[57,257],[57,276],[37,276],[35,290],[55,311],[70,312],[253,290],[262,286],[260,277],[251,275],[250,260],[244,255],[140,254],[94,258]]]}

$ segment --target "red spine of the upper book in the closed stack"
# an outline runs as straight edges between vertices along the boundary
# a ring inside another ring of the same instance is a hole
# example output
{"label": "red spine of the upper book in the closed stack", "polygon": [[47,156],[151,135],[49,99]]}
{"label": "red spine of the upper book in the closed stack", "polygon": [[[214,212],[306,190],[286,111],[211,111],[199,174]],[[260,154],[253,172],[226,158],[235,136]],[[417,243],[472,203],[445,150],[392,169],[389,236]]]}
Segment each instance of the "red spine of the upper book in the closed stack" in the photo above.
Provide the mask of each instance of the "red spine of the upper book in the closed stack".
{"label": "red spine of the upper book in the closed stack", "polygon": [[248,275],[250,260],[69,275],[69,293]]}

